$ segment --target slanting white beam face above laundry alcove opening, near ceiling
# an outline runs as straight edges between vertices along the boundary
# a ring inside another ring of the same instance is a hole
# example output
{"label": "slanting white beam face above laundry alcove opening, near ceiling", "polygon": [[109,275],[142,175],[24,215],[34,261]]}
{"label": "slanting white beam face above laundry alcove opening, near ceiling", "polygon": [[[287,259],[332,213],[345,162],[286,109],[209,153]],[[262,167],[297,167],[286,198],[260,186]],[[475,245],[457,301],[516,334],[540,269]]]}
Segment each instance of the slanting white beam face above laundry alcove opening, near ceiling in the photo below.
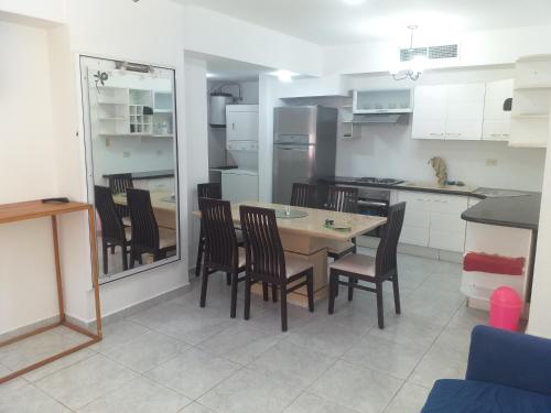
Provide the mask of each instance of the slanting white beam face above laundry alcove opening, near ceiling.
{"label": "slanting white beam face above laundry alcove opening, near ceiling", "polygon": [[199,7],[185,10],[184,39],[188,51],[304,75],[322,74],[321,46]]}

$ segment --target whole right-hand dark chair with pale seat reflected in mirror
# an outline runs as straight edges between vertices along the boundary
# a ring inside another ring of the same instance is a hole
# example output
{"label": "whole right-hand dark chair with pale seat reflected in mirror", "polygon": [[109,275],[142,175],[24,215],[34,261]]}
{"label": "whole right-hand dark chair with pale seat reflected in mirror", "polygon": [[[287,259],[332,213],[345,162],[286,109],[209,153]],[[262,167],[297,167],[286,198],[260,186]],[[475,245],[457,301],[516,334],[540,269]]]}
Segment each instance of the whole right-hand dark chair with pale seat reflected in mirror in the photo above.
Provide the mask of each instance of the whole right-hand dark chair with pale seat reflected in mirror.
{"label": "whole right-hand dark chair with pale seat reflected in mirror", "polygon": [[149,191],[127,188],[127,200],[132,224],[130,268],[143,253],[152,254],[154,261],[166,258],[176,249],[176,231],[156,225]]}

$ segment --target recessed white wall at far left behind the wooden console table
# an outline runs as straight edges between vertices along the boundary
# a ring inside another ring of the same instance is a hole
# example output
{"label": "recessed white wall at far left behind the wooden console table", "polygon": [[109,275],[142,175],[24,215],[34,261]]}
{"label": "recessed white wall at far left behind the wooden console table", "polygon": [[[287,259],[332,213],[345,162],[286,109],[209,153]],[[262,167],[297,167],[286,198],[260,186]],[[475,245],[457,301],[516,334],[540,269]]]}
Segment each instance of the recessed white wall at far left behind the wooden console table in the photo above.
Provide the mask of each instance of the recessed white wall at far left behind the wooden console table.
{"label": "recessed white wall at far left behind the wooden console table", "polygon": [[[0,204],[52,196],[56,181],[47,32],[0,21]],[[0,246],[0,334],[54,316],[50,219],[2,225]],[[35,305],[22,312],[21,303]]]}

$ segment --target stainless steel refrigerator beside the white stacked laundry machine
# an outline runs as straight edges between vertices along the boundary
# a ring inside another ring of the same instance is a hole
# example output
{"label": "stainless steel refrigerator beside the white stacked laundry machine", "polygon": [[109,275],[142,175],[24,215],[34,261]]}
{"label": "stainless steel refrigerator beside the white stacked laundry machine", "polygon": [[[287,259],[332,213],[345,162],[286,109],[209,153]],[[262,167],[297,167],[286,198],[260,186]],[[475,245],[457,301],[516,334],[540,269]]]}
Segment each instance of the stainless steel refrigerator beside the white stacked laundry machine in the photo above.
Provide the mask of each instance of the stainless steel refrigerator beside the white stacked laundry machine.
{"label": "stainless steel refrigerator beside the white stacked laundry machine", "polygon": [[322,106],[273,109],[272,202],[289,204],[293,183],[316,184],[335,174],[337,109]]}

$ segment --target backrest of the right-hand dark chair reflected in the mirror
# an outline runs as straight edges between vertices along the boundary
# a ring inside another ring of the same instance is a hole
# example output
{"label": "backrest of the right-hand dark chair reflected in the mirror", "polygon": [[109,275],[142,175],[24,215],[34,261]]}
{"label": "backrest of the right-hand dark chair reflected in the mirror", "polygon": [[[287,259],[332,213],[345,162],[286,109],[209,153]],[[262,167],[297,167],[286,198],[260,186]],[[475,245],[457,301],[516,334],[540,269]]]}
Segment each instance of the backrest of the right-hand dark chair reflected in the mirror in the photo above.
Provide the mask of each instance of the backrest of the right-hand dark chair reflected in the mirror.
{"label": "backrest of the right-hand dark chair reflected in the mirror", "polygon": [[127,188],[127,202],[132,222],[132,248],[147,251],[158,250],[159,227],[149,191]]}

